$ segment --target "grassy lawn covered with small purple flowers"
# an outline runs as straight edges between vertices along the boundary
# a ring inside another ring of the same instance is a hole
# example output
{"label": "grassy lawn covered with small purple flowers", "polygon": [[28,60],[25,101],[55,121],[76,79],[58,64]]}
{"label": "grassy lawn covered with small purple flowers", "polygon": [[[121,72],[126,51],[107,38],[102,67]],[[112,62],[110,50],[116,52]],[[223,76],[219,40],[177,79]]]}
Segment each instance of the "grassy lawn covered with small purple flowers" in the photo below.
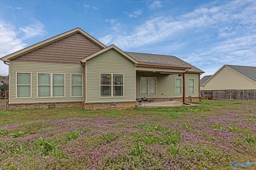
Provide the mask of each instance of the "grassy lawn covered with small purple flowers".
{"label": "grassy lawn covered with small purple flowers", "polygon": [[0,169],[232,169],[233,161],[256,161],[255,102],[194,103],[201,106],[2,108]]}

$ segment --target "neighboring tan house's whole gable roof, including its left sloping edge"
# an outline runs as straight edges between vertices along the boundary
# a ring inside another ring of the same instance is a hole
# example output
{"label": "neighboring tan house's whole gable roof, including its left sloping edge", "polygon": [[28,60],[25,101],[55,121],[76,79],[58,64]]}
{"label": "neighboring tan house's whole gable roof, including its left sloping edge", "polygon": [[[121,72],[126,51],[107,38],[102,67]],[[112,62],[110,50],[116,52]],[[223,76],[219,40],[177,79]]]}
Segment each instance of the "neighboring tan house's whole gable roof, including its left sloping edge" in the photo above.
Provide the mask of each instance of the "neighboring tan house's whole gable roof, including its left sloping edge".
{"label": "neighboring tan house's whole gable roof, including its left sloping edge", "polygon": [[[253,66],[236,66],[236,65],[223,65],[218,71],[216,71],[206,82],[208,82],[212,77],[215,76],[224,66],[230,68],[231,70],[234,70],[238,74],[248,78],[249,80],[253,81],[256,83],[256,67]],[[204,82],[204,84],[206,84]],[[202,85],[204,85],[202,84]]]}

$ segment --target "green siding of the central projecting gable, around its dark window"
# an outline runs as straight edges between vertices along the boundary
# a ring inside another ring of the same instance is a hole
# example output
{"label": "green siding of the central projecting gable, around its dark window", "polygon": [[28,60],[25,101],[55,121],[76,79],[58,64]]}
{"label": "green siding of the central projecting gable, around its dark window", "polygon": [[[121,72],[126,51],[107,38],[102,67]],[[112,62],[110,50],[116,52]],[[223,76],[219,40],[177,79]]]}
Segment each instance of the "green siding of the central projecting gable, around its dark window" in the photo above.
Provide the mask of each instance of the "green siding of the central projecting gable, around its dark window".
{"label": "green siding of the central projecting gable, around its dark window", "polygon": [[[100,98],[100,73],[124,74],[124,97]],[[86,62],[86,102],[135,101],[135,64],[110,49]]]}

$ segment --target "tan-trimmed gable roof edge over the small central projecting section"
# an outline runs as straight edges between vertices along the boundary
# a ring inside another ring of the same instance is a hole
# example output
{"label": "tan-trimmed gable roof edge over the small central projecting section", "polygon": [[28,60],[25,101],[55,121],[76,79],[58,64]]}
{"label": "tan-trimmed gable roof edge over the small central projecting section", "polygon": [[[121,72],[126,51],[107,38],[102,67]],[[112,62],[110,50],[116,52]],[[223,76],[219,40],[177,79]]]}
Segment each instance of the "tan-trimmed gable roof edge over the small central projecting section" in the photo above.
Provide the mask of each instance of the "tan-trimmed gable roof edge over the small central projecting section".
{"label": "tan-trimmed gable roof edge over the small central projecting section", "polygon": [[93,57],[96,57],[97,55],[100,55],[100,54],[102,54],[105,51],[108,51],[110,49],[116,50],[118,53],[120,53],[121,55],[123,55],[124,57],[126,57],[127,59],[132,61],[133,63],[138,63],[138,61],[136,61],[134,58],[130,57],[130,55],[124,53],[124,51],[122,51],[121,49],[119,49],[118,47],[116,47],[113,44],[108,46],[108,47],[106,47],[106,48],[104,48],[104,49],[102,49],[102,50],[100,50],[100,51],[98,51],[98,52],[96,52],[96,53],[94,53],[94,54],[92,54],[92,55],[89,55],[88,57],[85,57],[84,59],[81,60],[81,62],[86,63],[87,60],[89,60],[89,59],[91,59]]}

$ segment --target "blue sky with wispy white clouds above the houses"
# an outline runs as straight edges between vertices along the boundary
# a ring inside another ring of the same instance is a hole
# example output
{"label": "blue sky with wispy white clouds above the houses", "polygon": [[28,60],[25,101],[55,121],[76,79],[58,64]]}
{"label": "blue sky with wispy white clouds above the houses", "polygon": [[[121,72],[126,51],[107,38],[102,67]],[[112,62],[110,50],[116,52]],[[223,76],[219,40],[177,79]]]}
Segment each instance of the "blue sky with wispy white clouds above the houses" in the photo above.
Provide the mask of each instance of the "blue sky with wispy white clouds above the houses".
{"label": "blue sky with wispy white clouds above the houses", "polygon": [[202,76],[256,66],[256,0],[0,0],[0,57],[76,27],[123,51],[174,55]]}

